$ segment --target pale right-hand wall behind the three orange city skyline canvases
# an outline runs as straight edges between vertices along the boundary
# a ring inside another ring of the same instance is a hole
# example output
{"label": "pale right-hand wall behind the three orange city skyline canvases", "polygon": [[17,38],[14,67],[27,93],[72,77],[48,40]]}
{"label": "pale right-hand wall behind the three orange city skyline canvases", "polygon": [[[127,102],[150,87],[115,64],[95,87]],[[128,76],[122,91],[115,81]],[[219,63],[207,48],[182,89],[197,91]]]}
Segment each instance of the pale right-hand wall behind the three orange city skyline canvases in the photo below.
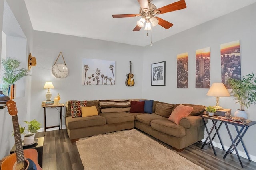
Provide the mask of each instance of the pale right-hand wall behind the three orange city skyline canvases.
{"label": "pale right-hand wall behind the three orange city skyline canvases", "polygon": [[[144,49],[143,64],[143,98],[160,100],[163,102],[192,103],[204,106],[215,105],[216,99],[206,96],[208,89],[195,88],[195,51],[197,49],[210,47],[211,70],[210,82],[221,82],[220,44],[240,40],[242,76],[255,71],[255,44],[256,44],[256,4],[242,8],[215,20],[208,21],[172,37],[147,46]],[[175,26],[175,25],[174,25]],[[171,29],[171,28],[170,28]],[[177,54],[188,52],[188,89],[176,88],[176,57]],[[156,57],[158,56],[158,57]],[[166,86],[151,86],[151,64],[166,61]],[[231,108],[232,115],[239,109],[239,105],[233,97],[220,98],[220,106]],[[256,121],[256,105],[248,109],[248,119]],[[209,127],[212,125],[208,123]],[[234,127],[232,134],[236,135]],[[249,151],[256,160],[256,125],[250,127],[243,140]],[[220,129],[224,145],[230,146],[226,127]],[[214,140],[219,143],[218,139]],[[241,144],[239,150],[244,151]]]}

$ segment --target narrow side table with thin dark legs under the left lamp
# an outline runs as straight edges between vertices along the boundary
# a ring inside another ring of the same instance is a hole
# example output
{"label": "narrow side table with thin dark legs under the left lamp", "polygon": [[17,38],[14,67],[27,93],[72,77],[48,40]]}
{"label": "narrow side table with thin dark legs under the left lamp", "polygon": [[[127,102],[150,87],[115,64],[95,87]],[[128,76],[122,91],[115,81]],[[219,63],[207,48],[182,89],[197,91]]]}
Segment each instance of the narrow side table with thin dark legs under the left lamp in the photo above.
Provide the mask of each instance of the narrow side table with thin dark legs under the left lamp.
{"label": "narrow side table with thin dark legs under the left lamp", "polygon": [[[64,107],[64,104],[58,104],[58,105],[41,105],[42,108],[44,108],[44,135],[45,135],[45,130],[48,128],[53,128],[53,127],[59,127],[59,130],[61,128],[61,132],[62,132],[62,107]],[[60,107],[60,111],[57,109],[58,107]],[[60,123],[59,125],[56,126],[48,126],[46,127],[46,109],[47,108],[56,108],[58,110],[58,112],[60,113]]]}

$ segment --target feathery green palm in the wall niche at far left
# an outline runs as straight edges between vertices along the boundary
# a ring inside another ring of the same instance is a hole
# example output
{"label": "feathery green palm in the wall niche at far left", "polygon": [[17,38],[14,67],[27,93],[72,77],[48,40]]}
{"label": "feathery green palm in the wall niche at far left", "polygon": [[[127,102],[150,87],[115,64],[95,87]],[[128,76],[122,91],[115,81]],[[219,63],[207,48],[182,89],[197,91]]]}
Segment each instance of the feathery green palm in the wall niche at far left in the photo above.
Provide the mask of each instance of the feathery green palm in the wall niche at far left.
{"label": "feathery green palm in the wall niche at far left", "polygon": [[[3,70],[3,77],[2,81],[4,82],[4,85],[2,87],[2,91],[4,92],[5,95],[10,96],[10,87],[15,87],[11,86],[11,84],[14,84],[16,81],[20,80],[20,78],[24,76],[29,76],[29,70],[26,68],[19,68],[20,66],[20,61],[17,59],[13,59],[10,57],[7,57],[6,59],[1,59],[1,64],[2,64],[2,70]],[[13,89],[13,92],[15,90]],[[12,96],[14,98],[14,96]],[[11,98],[11,99],[13,99]]]}

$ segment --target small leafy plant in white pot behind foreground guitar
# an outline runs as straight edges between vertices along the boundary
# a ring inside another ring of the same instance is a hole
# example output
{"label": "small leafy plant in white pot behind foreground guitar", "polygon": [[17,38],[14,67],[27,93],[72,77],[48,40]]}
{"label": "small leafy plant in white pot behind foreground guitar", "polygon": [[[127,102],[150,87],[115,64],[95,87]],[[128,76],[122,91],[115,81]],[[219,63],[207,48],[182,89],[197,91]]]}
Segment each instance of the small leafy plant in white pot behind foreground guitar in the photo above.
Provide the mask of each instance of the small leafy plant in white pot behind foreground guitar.
{"label": "small leafy plant in white pot behind foreground guitar", "polygon": [[[24,134],[24,145],[28,145],[34,142],[34,133],[37,133],[37,130],[41,128],[41,123],[39,123],[35,119],[30,122],[24,122],[28,125],[28,129],[20,126],[20,134]],[[25,130],[28,131],[28,133],[25,133]]]}

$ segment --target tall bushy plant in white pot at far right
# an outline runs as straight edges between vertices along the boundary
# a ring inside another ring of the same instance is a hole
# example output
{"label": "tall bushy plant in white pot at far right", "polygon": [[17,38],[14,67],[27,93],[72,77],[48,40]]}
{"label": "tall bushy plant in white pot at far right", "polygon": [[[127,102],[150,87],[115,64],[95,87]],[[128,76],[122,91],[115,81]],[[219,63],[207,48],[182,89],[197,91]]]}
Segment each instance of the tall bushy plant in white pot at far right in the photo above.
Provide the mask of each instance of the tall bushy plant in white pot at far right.
{"label": "tall bushy plant in white pot at far right", "polygon": [[230,78],[228,85],[232,88],[231,96],[234,96],[236,103],[240,104],[240,109],[237,109],[235,116],[247,119],[244,108],[248,109],[250,104],[256,104],[256,76],[252,73],[243,76],[241,80]]}

